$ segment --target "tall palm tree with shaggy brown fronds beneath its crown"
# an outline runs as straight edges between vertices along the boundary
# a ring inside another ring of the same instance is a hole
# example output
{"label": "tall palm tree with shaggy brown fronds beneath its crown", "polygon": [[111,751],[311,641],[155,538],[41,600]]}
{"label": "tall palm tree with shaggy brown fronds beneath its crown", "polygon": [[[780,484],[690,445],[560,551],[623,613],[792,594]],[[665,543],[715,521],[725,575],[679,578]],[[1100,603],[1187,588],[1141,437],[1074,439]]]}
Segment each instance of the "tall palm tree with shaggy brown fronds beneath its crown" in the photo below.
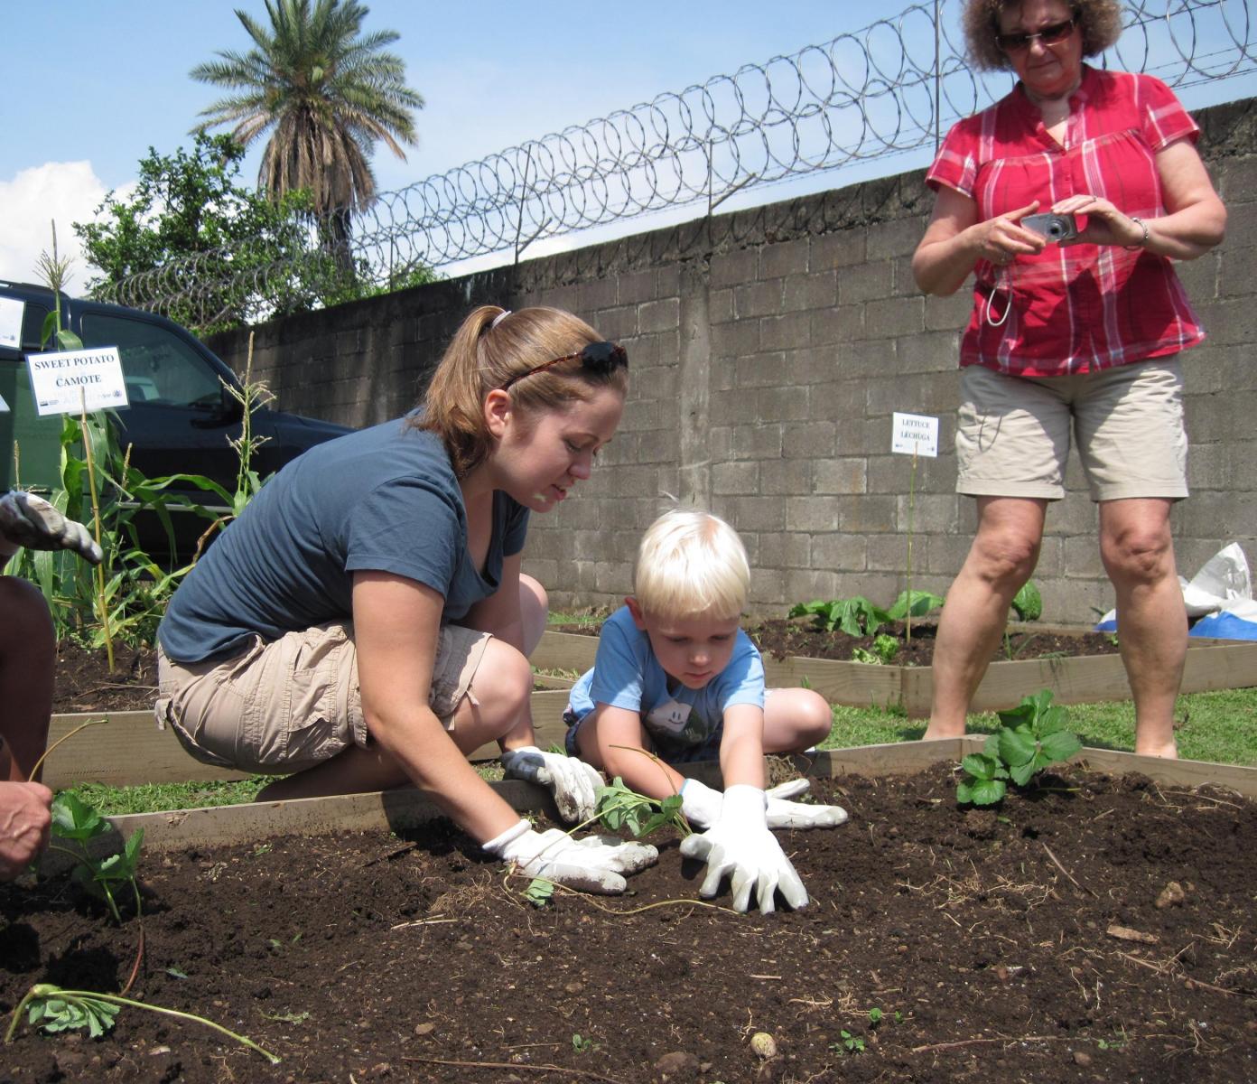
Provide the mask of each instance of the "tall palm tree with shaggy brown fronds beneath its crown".
{"label": "tall palm tree with shaggy brown fronds beneath its crown", "polygon": [[401,142],[415,145],[415,109],[424,98],[405,83],[405,64],[381,52],[395,30],[358,36],[368,9],[357,0],[265,0],[270,29],[236,9],[255,48],[221,50],[199,64],[194,79],[236,93],[202,109],[206,131],[234,124],[243,147],[274,128],[258,186],[277,204],[305,189],[324,245],[352,270],[349,215],[370,206],[376,179],[368,162],[376,141],[405,161]]}

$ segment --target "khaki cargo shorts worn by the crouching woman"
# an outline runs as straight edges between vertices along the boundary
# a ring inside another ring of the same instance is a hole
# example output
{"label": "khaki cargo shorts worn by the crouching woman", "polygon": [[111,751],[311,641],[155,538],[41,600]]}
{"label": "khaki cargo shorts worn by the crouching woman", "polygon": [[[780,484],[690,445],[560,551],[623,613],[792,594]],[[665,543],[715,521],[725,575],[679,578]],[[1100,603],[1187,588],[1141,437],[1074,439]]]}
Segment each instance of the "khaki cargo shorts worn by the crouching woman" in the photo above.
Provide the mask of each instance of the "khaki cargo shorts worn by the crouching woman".
{"label": "khaki cargo shorts worn by the crouching woman", "polygon": [[[442,625],[429,707],[454,729],[491,636]],[[263,775],[313,767],[367,746],[353,625],[332,621],[278,640],[258,636],[243,654],[173,663],[157,651],[157,726],[207,765]]]}

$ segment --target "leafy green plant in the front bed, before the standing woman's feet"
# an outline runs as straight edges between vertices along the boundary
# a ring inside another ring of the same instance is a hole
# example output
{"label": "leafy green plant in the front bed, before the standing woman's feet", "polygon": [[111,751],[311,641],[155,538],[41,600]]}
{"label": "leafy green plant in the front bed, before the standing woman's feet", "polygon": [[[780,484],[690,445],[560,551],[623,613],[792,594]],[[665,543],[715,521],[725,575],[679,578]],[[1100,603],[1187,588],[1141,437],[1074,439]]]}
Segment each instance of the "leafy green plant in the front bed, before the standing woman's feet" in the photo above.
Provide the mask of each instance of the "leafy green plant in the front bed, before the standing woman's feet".
{"label": "leafy green plant in the front bed, before the standing woman's feet", "polygon": [[1051,689],[1040,689],[1016,708],[1001,712],[1001,727],[987,738],[983,751],[960,762],[968,778],[957,785],[955,800],[992,805],[1007,792],[1004,780],[1026,786],[1048,765],[1072,757],[1082,743],[1066,729],[1066,721],[1065,708],[1052,704]]}

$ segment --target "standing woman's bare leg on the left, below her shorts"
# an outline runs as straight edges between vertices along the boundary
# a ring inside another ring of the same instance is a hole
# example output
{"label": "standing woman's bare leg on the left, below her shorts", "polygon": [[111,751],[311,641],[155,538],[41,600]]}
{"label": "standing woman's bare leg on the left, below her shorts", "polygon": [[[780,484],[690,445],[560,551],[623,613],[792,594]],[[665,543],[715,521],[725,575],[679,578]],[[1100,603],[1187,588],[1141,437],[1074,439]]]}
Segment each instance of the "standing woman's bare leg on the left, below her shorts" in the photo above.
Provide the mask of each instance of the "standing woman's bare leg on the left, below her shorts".
{"label": "standing woman's bare leg on the left, below her shorts", "polygon": [[964,734],[969,703],[999,644],[1008,606],[1038,562],[1046,511],[1046,501],[978,498],[978,533],[947,594],[934,643],[926,738]]}

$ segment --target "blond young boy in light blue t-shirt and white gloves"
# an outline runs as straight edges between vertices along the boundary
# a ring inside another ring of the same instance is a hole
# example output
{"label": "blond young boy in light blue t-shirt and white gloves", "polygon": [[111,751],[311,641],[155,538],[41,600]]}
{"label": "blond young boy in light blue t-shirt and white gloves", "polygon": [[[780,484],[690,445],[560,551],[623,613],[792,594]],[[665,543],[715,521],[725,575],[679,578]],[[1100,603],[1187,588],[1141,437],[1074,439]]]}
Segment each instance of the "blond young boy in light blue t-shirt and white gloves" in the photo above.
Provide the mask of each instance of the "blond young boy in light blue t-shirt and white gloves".
{"label": "blond young boy in light blue t-shirt and white gloves", "polygon": [[[680,794],[696,829],[681,854],[706,864],[701,894],[730,875],[734,908],[747,910],[754,892],[768,913],[778,889],[791,907],[807,903],[769,829],[832,827],[847,815],[787,801],[807,790],[802,780],[764,791],[764,753],[822,741],[831,713],[811,689],[764,688],[763,660],[740,628],[749,583],[747,551],[723,519],[684,509],[656,519],[634,594],[603,624],[593,669],[572,689],[567,751],[639,794]],[[670,767],[715,758],[723,794]]]}

